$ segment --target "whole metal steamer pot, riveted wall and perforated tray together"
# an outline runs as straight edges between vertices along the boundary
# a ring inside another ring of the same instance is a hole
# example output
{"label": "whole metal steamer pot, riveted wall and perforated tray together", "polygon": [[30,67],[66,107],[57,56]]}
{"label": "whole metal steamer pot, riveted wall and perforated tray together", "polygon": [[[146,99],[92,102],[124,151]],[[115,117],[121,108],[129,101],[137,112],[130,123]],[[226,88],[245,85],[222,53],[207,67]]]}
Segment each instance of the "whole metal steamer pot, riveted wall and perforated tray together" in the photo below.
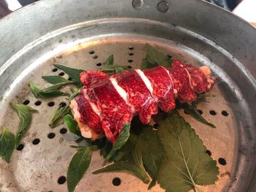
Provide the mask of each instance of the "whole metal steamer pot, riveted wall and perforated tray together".
{"label": "whole metal steamer pot, riveted wall and perforated tray together", "polygon": [[[44,86],[42,75],[61,73],[53,69],[56,62],[100,69],[110,54],[118,64],[138,68],[146,42],[189,64],[208,65],[217,77],[216,97],[199,106],[217,129],[181,112],[212,157],[226,162],[218,163],[216,185],[203,191],[256,191],[256,31],[244,20],[199,0],[43,0],[0,20],[0,42],[0,126],[18,128],[11,101],[26,101],[39,110],[23,138],[23,150],[12,154],[11,164],[0,160],[0,191],[67,191],[58,180],[67,174],[75,152],[69,145],[75,139],[64,126],[47,126],[64,98],[51,100],[55,105],[49,107],[49,100],[34,98],[28,82]],[[47,137],[50,132],[53,139]],[[33,145],[36,138],[39,144]],[[130,174],[92,175],[101,164],[94,153],[77,191],[146,191]],[[113,177],[120,177],[121,185],[113,186]]]}

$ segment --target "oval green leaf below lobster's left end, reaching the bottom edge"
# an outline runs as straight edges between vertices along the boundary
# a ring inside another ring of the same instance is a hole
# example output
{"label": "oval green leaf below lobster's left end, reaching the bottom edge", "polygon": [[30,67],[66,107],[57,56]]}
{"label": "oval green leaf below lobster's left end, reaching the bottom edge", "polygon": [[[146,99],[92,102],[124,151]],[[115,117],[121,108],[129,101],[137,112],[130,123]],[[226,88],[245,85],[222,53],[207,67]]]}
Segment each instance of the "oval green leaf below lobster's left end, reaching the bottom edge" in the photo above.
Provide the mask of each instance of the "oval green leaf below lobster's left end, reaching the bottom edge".
{"label": "oval green leaf below lobster's left end, reaching the bottom edge", "polygon": [[75,187],[83,178],[90,164],[91,147],[79,147],[67,169],[67,188],[69,192],[75,191]]}

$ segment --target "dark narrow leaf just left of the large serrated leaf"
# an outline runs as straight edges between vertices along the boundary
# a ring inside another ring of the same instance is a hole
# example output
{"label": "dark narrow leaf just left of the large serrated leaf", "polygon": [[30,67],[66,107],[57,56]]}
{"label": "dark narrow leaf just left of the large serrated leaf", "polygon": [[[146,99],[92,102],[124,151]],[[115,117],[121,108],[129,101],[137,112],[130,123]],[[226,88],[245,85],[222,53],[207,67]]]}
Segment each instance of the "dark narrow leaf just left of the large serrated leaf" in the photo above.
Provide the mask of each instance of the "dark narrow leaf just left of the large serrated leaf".
{"label": "dark narrow leaf just left of the large serrated leaf", "polygon": [[165,158],[165,150],[160,142],[157,131],[154,131],[152,127],[144,128],[140,138],[143,164],[152,178],[151,183],[148,185],[148,189],[150,189],[156,185],[157,174],[162,164],[162,159]]}

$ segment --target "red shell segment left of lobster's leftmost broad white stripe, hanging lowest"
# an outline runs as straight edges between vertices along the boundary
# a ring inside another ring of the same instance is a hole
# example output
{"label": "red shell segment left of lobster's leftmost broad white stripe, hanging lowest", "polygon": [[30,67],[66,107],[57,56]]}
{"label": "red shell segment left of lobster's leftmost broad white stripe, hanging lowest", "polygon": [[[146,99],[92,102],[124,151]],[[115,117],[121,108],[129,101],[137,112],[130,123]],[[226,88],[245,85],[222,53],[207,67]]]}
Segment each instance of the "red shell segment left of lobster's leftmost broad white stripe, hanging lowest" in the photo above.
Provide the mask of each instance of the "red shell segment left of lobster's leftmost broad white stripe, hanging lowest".
{"label": "red shell segment left of lobster's leftmost broad white stripe, hanging lowest", "polygon": [[115,142],[124,123],[132,120],[131,107],[121,98],[109,79],[104,79],[88,89],[91,101],[101,109],[102,128],[106,137]]}

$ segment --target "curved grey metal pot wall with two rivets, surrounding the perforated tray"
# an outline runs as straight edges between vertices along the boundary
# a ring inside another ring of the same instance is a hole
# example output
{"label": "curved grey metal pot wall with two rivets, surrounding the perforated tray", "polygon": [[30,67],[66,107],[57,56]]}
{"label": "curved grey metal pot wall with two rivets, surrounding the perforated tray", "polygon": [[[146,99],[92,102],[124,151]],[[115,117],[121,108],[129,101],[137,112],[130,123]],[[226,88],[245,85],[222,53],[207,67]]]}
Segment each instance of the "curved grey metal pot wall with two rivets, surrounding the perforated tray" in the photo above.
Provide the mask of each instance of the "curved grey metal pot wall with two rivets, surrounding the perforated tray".
{"label": "curved grey metal pot wall with two rivets, surrounding the perforated tray", "polygon": [[[75,36],[67,36],[72,31]],[[256,191],[256,30],[206,1],[42,0],[8,15],[0,20],[1,123],[8,115],[8,98],[23,87],[18,80],[28,75],[25,69],[43,69],[41,55],[61,53],[63,47],[56,50],[60,42],[72,47],[78,44],[75,39],[122,35],[131,41],[158,38],[162,48],[176,42],[212,63],[236,123],[236,165],[226,189]],[[176,52],[175,46],[167,48]]]}

